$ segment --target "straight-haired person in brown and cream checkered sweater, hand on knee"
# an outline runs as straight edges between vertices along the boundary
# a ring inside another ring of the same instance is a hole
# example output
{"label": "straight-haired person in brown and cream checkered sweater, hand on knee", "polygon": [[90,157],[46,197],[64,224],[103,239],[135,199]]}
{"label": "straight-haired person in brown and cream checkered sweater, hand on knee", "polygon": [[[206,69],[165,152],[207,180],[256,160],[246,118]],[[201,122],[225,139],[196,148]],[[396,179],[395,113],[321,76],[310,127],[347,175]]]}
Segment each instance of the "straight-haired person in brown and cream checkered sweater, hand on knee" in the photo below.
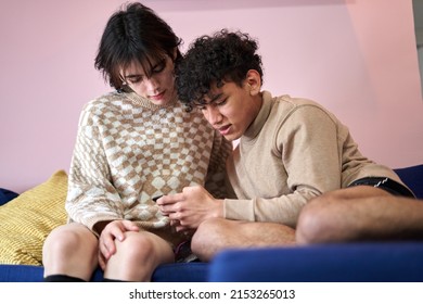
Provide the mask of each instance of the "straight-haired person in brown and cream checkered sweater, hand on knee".
{"label": "straight-haired person in brown and cream checkered sweater, hand on knee", "polygon": [[44,242],[46,281],[88,281],[99,265],[108,281],[149,281],[158,265],[189,258],[176,249],[191,238],[172,229],[156,197],[193,185],[226,195],[232,144],[178,101],[180,42],[141,3],[110,17],[95,67],[116,90],[80,115],[65,203],[69,223]]}

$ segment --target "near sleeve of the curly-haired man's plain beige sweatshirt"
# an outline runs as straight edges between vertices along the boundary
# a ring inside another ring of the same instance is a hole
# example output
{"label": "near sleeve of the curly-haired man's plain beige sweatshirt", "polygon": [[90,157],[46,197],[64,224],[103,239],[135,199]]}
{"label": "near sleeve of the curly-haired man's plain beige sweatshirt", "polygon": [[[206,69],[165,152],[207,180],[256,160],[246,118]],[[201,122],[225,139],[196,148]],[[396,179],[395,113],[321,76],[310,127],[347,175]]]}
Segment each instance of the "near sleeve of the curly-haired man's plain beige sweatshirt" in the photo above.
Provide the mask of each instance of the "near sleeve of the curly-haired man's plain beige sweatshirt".
{"label": "near sleeve of the curly-haired man's plain beige sweatshirt", "polygon": [[310,199],[341,188],[337,125],[322,109],[298,106],[278,127],[273,149],[286,172],[287,193],[225,200],[227,218],[280,223],[295,228],[300,210]]}

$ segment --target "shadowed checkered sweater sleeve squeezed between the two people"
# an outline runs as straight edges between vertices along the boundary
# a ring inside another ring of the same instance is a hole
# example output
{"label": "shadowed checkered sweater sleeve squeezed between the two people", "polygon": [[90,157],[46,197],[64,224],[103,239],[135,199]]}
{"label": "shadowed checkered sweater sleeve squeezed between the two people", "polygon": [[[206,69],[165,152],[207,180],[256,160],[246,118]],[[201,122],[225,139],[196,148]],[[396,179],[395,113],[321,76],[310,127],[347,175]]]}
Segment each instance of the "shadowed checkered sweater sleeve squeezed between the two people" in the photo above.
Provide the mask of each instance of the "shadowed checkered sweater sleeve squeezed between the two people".
{"label": "shadowed checkered sweater sleeve squeezed between the two people", "polygon": [[232,142],[215,131],[205,181],[205,188],[214,198],[223,199],[228,197],[226,162],[232,150]]}

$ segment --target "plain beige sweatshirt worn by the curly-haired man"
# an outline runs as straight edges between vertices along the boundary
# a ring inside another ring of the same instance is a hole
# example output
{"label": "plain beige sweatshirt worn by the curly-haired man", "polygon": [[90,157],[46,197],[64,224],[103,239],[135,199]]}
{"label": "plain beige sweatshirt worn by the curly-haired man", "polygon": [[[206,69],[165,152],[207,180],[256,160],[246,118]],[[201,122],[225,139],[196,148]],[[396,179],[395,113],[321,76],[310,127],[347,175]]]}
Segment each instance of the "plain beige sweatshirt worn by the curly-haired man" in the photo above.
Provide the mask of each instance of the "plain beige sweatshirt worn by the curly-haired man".
{"label": "plain beige sweatshirt worn by the curly-haired man", "polygon": [[302,207],[323,192],[362,177],[401,182],[390,168],[364,157],[348,128],[318,103],[267,91],[262,97],[258,116],[228,160],[238,200],[225,200],[226,218],[295,227]]}

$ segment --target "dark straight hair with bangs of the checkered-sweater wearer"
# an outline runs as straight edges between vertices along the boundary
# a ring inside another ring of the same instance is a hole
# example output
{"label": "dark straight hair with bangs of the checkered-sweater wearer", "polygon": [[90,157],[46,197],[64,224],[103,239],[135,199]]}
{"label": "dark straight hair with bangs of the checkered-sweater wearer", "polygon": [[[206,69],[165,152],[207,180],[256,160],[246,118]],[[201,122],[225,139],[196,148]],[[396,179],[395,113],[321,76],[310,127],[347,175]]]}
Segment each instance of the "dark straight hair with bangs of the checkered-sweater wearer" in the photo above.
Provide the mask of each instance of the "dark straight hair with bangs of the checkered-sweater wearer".
{"label": "dark straight hair with bangs of the checkered-sweater wearer", "polygon": [[181,59],[181,43],[171,27],[152,9],[138,2],[125,4],[105,26],[95,68],[112,87],[123,89],[120,69],[138,61],[150,77],[153,65],[166,55],[174,62]]}

